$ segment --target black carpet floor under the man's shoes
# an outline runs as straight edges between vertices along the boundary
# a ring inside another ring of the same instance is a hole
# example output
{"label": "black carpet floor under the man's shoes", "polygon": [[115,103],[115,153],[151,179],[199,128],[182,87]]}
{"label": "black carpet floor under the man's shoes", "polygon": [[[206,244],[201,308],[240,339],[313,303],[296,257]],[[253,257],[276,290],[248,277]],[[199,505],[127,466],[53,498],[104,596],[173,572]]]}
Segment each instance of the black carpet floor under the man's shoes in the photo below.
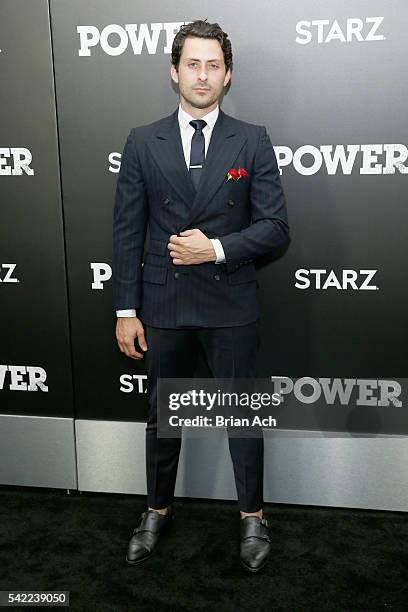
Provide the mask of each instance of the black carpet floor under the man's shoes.
{"label": "black carpet floor under the man's shoes", "polygon": [[236,503],[173,508],[157,554],[129,567],[144,497],[0,486],[0,590],[70,591],[79,612],[408,610],[406,514],[267,504],[272,557],[247,575]]}

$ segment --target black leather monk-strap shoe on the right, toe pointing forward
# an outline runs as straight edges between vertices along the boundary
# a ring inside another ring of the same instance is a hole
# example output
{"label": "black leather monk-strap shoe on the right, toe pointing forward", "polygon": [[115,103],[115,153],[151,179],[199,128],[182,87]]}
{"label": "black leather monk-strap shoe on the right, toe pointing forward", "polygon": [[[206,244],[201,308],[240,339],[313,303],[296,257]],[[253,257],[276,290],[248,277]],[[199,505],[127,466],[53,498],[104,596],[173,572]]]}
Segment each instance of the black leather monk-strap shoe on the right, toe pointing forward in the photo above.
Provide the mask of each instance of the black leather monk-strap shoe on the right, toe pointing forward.
{"label": "black leather monk-strap shoe on the right, toe pointing forward", "polygon": [[248,572],[259,572],[268,561],[271,540],[268,521],[259,516],[241,518],[241,565]]}

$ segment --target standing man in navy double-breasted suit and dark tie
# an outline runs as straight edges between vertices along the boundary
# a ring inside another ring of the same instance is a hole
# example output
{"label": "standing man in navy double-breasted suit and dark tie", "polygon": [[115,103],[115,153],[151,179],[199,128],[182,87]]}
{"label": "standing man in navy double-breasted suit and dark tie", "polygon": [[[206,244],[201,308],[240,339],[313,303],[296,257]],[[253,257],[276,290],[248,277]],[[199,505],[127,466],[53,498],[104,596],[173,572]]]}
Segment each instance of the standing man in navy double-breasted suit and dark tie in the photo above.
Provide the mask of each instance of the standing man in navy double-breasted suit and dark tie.
{"label": "standing man in navy double-breasted suit and dark tie", "polygon": [[[113,227],[116,337],[128,357],[145,354],[149,399],[148,510],[129,542],[131,565],[153,554],[173,519],[181,440],[157,436],[157,378],[192,377],[200,350],[215,378],[256,376],[253,261],[288,239],[266,129],[219,108],[231,71],[231,43],[218,24],[199,20],[182,26],[171,65],[179,107],[132,129],[122,155]],[[136,338],[143,352],[136,350]],[[241,514],[241,563],[257,572],[270,552],[262,516],[263,438],[230,437],[229,447]]]}

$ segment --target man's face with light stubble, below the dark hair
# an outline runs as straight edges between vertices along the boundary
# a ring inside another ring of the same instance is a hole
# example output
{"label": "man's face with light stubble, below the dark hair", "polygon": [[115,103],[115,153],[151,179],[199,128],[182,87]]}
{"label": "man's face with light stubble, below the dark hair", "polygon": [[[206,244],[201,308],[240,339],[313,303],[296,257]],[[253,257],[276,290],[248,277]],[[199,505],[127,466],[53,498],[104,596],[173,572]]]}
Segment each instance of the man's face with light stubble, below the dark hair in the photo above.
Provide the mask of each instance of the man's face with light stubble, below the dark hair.
{"label": "man's face with light stubble, below the dark hair", "polygon": [[225,70],[224,54],[218,40],[187,37],[178,72],[172,65],[171,77],[179,85],[180,97],[186,103],[183,106],[215,108],[231,78],[231,71]]}

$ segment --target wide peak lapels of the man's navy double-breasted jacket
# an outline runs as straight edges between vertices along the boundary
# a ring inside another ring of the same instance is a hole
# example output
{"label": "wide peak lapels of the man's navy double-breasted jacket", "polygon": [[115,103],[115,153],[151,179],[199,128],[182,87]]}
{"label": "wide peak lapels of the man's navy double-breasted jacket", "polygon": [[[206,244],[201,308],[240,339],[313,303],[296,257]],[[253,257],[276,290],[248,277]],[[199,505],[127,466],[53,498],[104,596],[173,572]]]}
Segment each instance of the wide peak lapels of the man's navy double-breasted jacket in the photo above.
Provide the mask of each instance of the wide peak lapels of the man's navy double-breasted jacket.
{"label": "wide peak lapels of the man's navy double-breasted jacket", "polygon": [[201,171],[198,191],[195,190],[187,170],[178,123],[178,109],[149,140],[150,150],[159,168],[188,207],[185,227],[190,226],[207,207],[226,180],[227,172],[246,140],[246,136],[237,133],[234,122],[220,108]]}

